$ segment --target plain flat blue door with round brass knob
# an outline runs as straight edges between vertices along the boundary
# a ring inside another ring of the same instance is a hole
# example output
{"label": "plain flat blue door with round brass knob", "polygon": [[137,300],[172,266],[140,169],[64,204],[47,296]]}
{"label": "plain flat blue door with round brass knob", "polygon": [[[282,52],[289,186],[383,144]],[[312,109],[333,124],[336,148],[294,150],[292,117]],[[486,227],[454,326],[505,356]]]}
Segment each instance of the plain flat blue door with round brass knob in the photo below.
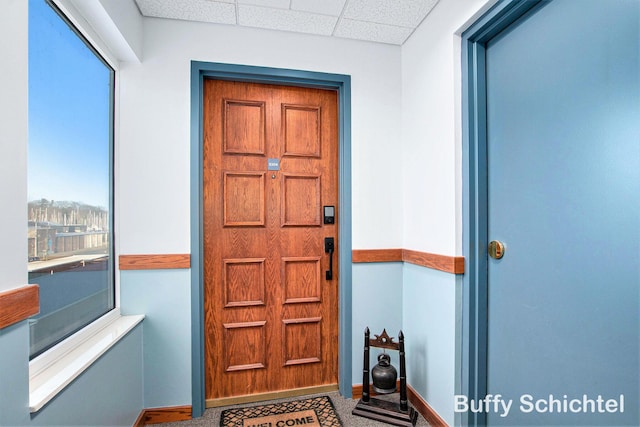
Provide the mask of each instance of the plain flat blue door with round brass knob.
{"label": "plain flat blue door with round brass knob", "polygon": [[486,45],[489,425],[640,425],[639,23],[555,0]]}

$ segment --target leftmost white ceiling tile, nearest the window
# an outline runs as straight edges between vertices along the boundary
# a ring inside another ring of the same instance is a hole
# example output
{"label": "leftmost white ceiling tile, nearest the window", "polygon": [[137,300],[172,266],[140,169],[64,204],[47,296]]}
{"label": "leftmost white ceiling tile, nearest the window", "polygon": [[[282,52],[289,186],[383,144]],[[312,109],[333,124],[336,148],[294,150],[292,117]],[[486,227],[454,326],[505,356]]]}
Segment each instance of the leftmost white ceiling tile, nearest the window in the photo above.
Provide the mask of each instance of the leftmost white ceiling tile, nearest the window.
{"label": "leftmost white ceiling tile, nearest the window", "polygon": [[136,0],[144,16],[235,24],[235,4],[211,0]]}

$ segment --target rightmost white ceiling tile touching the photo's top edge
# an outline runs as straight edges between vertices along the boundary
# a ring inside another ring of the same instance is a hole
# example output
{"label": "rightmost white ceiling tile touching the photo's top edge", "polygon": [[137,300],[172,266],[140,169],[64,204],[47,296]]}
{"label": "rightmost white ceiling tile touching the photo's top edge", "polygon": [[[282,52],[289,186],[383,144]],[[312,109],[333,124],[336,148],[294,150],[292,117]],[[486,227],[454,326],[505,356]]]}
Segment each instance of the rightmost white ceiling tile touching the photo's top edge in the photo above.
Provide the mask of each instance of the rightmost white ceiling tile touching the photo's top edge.
{"label": "rightmost white ceiling tile touching the photo's top edge", "polygon": [[344,17],[415,28],[438,0],[349,0]]}

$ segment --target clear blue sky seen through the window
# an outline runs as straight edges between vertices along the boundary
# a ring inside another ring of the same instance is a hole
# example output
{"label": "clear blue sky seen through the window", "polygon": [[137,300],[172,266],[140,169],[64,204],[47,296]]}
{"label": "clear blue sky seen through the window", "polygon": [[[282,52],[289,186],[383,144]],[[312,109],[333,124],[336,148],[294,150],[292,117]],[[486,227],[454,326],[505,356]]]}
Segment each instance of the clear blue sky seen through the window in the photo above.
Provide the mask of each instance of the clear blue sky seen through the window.
{"label": "clear blue sky seen through the window", "polygon": [[110,73],[44,0],[29,0],[29,201],[109,207]]}

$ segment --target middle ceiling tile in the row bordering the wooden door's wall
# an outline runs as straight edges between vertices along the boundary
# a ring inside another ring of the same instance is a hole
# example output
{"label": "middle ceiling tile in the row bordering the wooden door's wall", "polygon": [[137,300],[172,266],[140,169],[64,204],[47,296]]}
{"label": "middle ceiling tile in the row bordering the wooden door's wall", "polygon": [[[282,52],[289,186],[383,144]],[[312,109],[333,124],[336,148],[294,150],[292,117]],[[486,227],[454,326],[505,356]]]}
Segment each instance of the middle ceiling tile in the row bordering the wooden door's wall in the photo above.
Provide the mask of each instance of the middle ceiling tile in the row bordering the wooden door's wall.
{"label": "middle ceiling tile in the row bordering the wooden door's wall", "polygon": [[325,36],[331,35],[338,21],[332,16],[247,5],[240,5],[238,12],[240,25]]}

